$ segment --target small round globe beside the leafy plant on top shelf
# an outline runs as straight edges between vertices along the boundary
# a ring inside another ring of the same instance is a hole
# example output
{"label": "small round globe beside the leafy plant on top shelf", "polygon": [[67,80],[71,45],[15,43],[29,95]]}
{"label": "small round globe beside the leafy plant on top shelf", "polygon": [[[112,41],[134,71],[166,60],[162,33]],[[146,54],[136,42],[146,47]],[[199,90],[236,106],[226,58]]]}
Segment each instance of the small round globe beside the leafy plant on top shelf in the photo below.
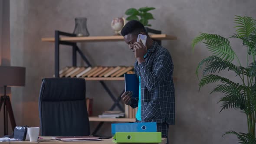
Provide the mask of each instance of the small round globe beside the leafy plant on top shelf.
{"label": "small round globe beside the leafy plant on top shelf", "polygon": [[115,35],[121,35],[121,29],[125,26],[125,18],[117,17],[111,22],[111,28],[115,31]]}

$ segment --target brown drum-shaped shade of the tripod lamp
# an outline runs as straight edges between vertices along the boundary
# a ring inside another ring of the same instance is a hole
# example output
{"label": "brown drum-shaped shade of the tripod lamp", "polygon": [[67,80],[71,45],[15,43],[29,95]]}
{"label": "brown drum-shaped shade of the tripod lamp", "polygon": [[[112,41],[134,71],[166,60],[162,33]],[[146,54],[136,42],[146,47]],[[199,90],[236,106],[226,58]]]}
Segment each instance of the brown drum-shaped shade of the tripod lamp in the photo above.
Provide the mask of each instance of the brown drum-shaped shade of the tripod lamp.
{"label": "brown drum-shaped shade of the tripod lamp", "polygon": [[24,86],[26,68],[0,66],[0,86]]}

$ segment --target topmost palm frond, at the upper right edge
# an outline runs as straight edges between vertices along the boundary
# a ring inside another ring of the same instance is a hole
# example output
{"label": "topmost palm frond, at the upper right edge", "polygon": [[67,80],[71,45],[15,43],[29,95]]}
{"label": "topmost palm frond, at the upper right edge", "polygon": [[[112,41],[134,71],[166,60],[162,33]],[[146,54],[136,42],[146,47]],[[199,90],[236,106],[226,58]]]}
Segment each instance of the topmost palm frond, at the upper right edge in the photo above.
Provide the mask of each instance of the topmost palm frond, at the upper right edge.
{"label": "topmost palm frond, at the upper right edge", "polygon": [[235,23],[239,24],[235,26],[235,28],[237,28],[236,32],[239,36],[246,37],[254,32],[256,27],[256,20],[253,18],[247,16],[236,16],[235,21]]}

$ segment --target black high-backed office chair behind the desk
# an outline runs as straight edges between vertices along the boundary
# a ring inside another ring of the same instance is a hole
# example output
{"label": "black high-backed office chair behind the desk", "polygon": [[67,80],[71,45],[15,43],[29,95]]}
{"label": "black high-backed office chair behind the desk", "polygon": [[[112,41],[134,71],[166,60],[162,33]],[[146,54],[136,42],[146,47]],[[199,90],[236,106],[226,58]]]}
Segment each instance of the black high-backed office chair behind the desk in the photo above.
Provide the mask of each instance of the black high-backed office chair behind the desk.
{"label": "black high-backed office chair behind the desk", "polygon": [[90,135],[85,79],[43,79],[39,94],[42,136]]}

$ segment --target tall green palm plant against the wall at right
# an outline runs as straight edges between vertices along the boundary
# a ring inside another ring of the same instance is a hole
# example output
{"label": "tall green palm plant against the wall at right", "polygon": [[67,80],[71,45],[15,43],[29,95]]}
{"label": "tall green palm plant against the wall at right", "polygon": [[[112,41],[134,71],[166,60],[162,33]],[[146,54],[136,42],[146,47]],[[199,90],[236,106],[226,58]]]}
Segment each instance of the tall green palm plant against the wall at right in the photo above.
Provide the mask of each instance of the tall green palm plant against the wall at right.
{"label": "tall green palm plant against the wall at right", "polygon": [[[199,62],[196,75],[198,77],[198,70],[204,65],[199,89],[204,85],[218,82],[211,93],[223,93],[219,101],[222,107],[220,112],[228,108],[236,108],[246,115],[247,133],[228,131],[225,134],[236,134],[241,144],[256,144],[256,20],[247,16],[236,16],[235,23],[236,34],[229,38],[217,34],[200,33],[192,41],[193,51],[196,44],[202,42],[212,54]],[[246,50],[247,57],[241,59],[246,59],[246,65],[240,63],[236,52],[230,46],[231,38],[243,41],[245,47],[243,49]],[[233,64],[233,60],[239,64]],[[216,74],[223,70],[233,71],[240,82],[236,83],[232,79]]]}

